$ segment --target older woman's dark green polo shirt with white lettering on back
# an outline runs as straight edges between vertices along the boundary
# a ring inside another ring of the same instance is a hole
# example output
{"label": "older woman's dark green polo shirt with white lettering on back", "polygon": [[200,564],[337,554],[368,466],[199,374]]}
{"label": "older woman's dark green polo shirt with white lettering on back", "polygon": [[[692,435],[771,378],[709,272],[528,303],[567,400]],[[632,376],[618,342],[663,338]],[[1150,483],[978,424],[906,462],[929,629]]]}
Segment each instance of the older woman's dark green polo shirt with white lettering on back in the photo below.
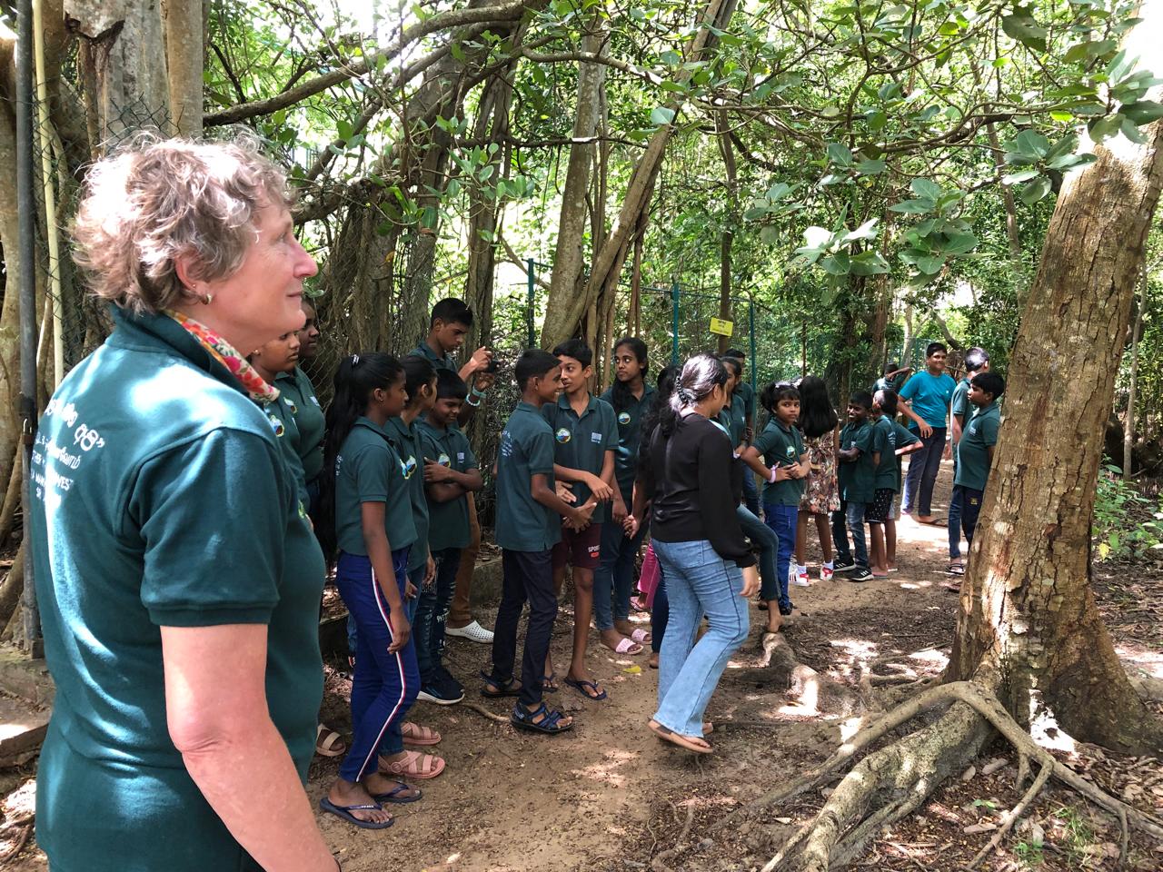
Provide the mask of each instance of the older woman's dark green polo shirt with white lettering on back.
{"label": "older woman's dark green polo shirt with white lettering on back", "polygon": [[267,708],[306,781],[323,557],[235,377],[166,315],[113,316],[33,450],[27,529],[57,688],[36,838],[59,870],[257,870],[170,739],[160,628],[266,624]]}

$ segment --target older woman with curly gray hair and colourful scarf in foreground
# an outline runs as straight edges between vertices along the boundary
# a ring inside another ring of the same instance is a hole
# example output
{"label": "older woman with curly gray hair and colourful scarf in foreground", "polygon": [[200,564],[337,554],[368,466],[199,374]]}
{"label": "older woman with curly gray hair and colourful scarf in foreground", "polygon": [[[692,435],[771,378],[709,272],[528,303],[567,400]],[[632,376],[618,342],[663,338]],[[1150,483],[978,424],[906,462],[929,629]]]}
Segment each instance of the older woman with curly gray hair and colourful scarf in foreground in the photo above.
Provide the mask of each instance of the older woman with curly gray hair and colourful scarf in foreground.
{"label": "older woman with curly gray hair and colourful scarf in foreground", "polygon": [[244,141],[138,142],[88,174],[76,259],[115,329],[45,409],[29,507],[53,872],[337,866],[302,786],[323,560],[244,359],[304,323],[290,206]]}

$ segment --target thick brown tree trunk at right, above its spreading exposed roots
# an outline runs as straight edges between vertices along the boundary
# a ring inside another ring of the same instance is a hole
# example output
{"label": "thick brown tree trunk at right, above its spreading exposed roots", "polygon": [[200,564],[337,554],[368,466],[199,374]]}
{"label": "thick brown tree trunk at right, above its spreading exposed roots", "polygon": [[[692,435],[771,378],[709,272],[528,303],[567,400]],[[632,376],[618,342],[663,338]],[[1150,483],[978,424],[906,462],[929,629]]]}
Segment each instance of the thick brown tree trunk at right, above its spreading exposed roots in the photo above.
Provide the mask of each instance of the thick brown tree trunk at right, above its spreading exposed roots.
{"label": "thick brown tree trunk at right, above its spreading exposed roots", "polygon": [[[1161,5],[1144,8],[1153,2]],[[1128,48],[1136,53],[1149,55]],[[983,664],[997,667],[1001,701],[1019,723],[1048,708],[1075,738],[1132,753],[1157,753],[1163,730],[1128,682],[1094,605],[1090,528],[1163,185],[1163,122],[1144,133],[1144,145],[1119,137],[1096,146],[1098,162],[1063,185],[1011,362],[948,670],[963,679]]]}

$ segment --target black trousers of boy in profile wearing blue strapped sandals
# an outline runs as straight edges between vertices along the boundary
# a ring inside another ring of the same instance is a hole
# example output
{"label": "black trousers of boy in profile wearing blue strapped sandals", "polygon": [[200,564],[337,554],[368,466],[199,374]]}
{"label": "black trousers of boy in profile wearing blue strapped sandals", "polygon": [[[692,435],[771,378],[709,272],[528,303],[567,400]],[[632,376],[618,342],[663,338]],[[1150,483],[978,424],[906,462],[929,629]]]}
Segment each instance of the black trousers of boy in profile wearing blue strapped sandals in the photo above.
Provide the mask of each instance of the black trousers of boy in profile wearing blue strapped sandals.
{"label": "black trousers of boy in profile wearing blue strapped sandals", "polygon": [[501,685],[513,678],[516,663],[516,626],[521,610],[529,602],[529,628],[525,634],[525,653],[521,657],[522,706],[534,709],[541,705],[541,679],[545,674],[549,638],[557,617],[557,596],[554,593],[552,551],[501,551],[501,605],[493,628],[492,680]]}

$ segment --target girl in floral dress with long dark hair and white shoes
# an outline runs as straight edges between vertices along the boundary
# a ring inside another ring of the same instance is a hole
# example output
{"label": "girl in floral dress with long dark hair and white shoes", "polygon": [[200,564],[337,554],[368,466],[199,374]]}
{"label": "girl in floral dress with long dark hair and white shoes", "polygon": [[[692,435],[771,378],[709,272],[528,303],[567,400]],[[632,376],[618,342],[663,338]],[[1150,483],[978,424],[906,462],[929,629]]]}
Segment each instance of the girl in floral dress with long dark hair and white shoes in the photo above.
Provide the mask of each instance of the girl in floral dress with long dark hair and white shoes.
{"label": "girl in floral dress with long dark hair and white shoes", "polygon": [[807,448],[812,474],[800,499],[799,523],[795,528],[795,570],[792,584],[806,587],[807,565],[807,528],[815,521],[820,536],[820,549],[823,562],[820,564],[820,580],[832,579],[832,526],[830,515],[840,510],[840,489],[836,486],[836,449],[840,435],[836,410],[828,399],[828,388],[823,379],[816,376],[805,376],[799,384],[800,419],[799,428],[804,434],[804,445]]}

